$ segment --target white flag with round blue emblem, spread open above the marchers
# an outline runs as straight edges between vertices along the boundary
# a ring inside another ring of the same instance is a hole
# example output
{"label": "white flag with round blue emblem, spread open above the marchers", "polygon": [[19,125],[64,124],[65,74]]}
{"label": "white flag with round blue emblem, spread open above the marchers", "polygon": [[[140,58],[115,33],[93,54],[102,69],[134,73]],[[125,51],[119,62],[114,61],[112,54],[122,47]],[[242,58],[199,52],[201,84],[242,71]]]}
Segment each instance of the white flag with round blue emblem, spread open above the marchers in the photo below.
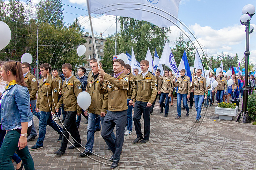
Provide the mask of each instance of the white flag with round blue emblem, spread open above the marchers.
{"label": "white flag with round blue emblem, spread open above the marchers", "polygon": [[[178,72],[177,64],[167,42],[164,45],[163,53],[159,63],[165,64],[167,67],[169,67],[172,70],[173,74],[176,74]],[[179,72],[177,73],[176,77],[180,77]]]}

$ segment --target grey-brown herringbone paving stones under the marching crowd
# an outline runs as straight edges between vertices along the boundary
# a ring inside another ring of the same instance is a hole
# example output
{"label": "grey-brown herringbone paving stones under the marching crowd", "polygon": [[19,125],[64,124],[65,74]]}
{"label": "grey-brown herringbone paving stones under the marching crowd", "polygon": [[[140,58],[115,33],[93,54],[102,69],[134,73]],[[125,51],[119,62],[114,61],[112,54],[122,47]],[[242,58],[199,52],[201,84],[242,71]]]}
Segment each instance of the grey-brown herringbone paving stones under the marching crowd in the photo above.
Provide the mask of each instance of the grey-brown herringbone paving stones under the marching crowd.
{"label": "grey-brown herringbone paving stones under the marching crowd", "polygon": [[[145,144],[133,144],[136,138],[133,126],[132,134],[125,136],[120,163],[116,169],[162,170],[162,169],[256,169],[256,134],[255,125],[220,120],[214,114],[215,107],[202,111],[202,119],[195,123],[196,110],[182,110],[181,118],[177,116],[177,99],[169,105],[168,117],[160,114],[157,102],[150,115],[150,140]],[[242,102],[240,102],[242,106]],[[216,120],[216,121],[214,121]],[[82,117],[79,132],[82,145],[87,140],[87,124]],[[34,118],[36,129],[38,119]],[[143,129],[143,117],[141,118]],[[47,126],[44,148],[30,151],[37,170],[98,170],[110,169],[109,159],[112,155],[108,146],[97,131],[94,135],[95,155],[81,158],[79,151],[67,149],[63,156],[54,154],[60,147],[58,134]],[[36,137],[37,139],[37,137]],[[72,141],[72,140],[71,140]],[[28,142],[33,146],[36,140]],[[83,152],[84,149],[80,148]]]}

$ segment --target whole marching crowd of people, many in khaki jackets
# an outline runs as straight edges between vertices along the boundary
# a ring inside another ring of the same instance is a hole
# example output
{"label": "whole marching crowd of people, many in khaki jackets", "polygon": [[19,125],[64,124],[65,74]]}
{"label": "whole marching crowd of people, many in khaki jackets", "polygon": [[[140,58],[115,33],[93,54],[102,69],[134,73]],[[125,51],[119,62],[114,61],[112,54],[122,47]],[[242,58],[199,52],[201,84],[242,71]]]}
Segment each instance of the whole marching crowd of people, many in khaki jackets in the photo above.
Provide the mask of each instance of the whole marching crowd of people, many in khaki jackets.
{"label": "whole marching crowd of people, many in khaki jackets", "polygon": [[[132,133],[133,124],[136,139],[133,143],[146,143],[150,139],[150,115],[153,114],[154,105],[159,97],[160,113],[168,117],[169,104],[173,106],[174,96],[177,99],[177,117],[181,118],[181,109],[186,110],[186,117],[195,104],[197,115],[195,122],[201,119],[201,110],[222,101],[243,96],[244,78],[233,74],[234,83],[227,85],[230,77],[224,77],[219,72],[216,77],[211,72],[207,79],[202,76],[202,70],[197,69],[192,75],[192,80],[185,75],[186,70],[180,70],[180,77],[165,70],[164,76],[158,69],[155,75],[148,71],[149,62],[142,60],[139,70],[134,70],[123,60],[113,61],[114,76],[102,69],[101,62],[91,59],[92,70],[85,76],[86,69],[78,68],[78,77],[72,74],[72,65],[62,65],[63,77],[58,75],[58,70],[49,63],[41,64],[42,79],[38,83],[35,76],[30,73],[29,63],[16,61],[0,62],[0,168],[14,169],[11,159],[17,163],[16,169],[34,169],[34,161],[29,150],[43,148],[46,127],[49,125],[58,134],[56,141],[61,141],[56,155],[63,155],[67,149],[69,136],[74,143],[68,149],[77,149],[82,146],[79,126],[81,116],[87,119],[87,142],[85,151],[79,153],[80,157],[93,154],[94,133],[101,131],[102,138],[108,145],[113,155],[111,169],[118,166],[124,136]],[[52,73],[52,74],[51,74]],[[218,86],[213,88],[213,82]],[[250,94],[256,87],[255,79],[249,81]],[[77,104],[79,93],[86,91],[91,96],[91,104],[87,110],[82,110]],[[37,94],[37,95],[36,95]],[[206,100],[205,100],[206,99]],[[181,100],[183,106],[181,106]],[[188,106],[188,100],[190,107]],[[205,102],[204,102],[205,101]],[[210,101],[210,103],[209,103]],[[203,104],[204,102],[204,104]],[[165,110],[163,110],[165,109]],[[62,110],[62,111],[61,111]],[[132,117],[132,110],[134,114]],[[60,118],[62,113],[62,119]],[[37,134],[33,115],[39,119],[39,134]],[[144,137],[141,130],[140,119],[143,116]],[[63,125],[61,127],[56,121]],[[116,127],[116,134],[113,132]],[[32,141],[38,135],[36,143],[28,149],[27,141]]]}

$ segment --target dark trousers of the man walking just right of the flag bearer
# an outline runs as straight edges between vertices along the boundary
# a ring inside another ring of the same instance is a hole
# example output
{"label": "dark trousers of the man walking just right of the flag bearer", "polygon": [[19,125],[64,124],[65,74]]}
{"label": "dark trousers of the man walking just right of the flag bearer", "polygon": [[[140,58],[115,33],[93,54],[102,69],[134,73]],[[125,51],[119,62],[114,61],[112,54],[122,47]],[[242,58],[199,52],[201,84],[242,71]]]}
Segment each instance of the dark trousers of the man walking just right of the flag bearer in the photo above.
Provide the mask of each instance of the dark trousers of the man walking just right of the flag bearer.
{"label": "dark trousers of the man walking just right of the flag bearer", "polygon": [[134,114],[133,114],[133,122],[135,126],[135,131],[137,137],[142,136],[141,132],[141,125],[140,125],[140,118],[141,114],[143,114],[143,122],[144,122],[144,140],[149,139],[149,134],[150,134],[150,107],[147,107],[147,102],[141,102],[141,101],[136,101],[134,105]]}

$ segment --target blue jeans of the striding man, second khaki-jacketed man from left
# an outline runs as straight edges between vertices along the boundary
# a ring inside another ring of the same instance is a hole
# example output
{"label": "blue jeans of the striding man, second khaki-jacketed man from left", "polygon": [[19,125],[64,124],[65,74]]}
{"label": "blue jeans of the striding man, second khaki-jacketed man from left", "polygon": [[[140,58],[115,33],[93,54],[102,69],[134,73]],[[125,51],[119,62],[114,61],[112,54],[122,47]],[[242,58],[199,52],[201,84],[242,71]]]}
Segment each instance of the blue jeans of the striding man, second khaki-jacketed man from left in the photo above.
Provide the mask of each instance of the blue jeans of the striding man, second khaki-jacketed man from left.
{"label": "blue jeans of the striding man, second khaki-jacketed man from left", "polygon": [[52,120],[51,112],[41,111],[41,116],[39,120],[39,137],[36,141],[37,146],[43,146],[43,140],[45,138],[47,125],[52,127],[56,132],[58,132],[60,137],[62,137],[62,128]]}

